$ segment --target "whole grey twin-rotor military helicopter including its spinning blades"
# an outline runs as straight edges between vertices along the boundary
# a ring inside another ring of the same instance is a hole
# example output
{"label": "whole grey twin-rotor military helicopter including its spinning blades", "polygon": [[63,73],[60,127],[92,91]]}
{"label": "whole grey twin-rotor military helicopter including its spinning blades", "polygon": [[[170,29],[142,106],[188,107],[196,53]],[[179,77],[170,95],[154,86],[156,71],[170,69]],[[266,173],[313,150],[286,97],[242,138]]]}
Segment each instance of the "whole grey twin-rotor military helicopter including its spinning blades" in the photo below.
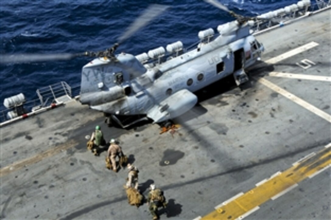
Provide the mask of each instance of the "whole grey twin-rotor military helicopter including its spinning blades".
{"label": "whole grey twin-rotor military helicopter including its spinning blades", "polygon": [[[144,119],[162,123],[193,108],[198,98],[193,93],[228,75],[237,85],[248,81],[244,69],[253,65],[264,50],[250,32],[254,19],[229,11],[213,0],[206,2],[229,12],[236,20],[219,25],[216,36],[212,28],[200,31],[196,48],[185,51],[177,41],[140,55],[115,54],[119,44],[167,6],[152,5],[133,22],[106,51],[83,54],[62,54],[2,57],[2,62],[31,62],[71,59],[76,56],[97,57],[82,68],[80,102],[104,112],[108,124],[126,127]],[[167,53],[166,53],[167,51]],[[124,125],[123,116],[142,116]]]}

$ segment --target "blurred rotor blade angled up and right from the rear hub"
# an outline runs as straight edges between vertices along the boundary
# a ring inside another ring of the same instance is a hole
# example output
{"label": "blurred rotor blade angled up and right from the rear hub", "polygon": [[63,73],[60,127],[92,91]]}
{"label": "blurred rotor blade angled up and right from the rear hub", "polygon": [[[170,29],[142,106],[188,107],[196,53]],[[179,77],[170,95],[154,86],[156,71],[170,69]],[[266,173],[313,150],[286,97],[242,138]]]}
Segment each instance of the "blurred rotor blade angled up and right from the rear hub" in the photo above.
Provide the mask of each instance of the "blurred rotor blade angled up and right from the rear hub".
{"label": "blurred rotor blade angled up and right from the rear hub", "polygon": [[153,18],[164,12],[169,6],[166,5],[150,5],[144,13],[139,16],[131,25],[126,29],[125,33],[118,38],[118,44],[123,43],[126,39],[131,37],[136,31],[148,24]]}

